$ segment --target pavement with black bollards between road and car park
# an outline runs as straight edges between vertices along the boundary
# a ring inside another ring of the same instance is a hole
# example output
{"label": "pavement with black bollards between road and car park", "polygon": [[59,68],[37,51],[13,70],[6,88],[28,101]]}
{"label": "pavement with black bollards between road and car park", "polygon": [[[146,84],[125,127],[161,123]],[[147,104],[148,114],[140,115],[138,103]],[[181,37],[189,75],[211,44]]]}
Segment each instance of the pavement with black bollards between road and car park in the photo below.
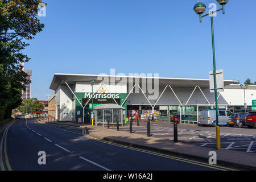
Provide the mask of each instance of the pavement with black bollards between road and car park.
{"label": "pavement with black bollards between road and car park", "polygon": [[[59,125],[70,125],[81,128],[88,128],[89,135],[102,140],[107,140],[114,143],[125,144],[127,146],[133,146],[138,148],[144,148],[147,150],[158,151],[164,154],[171,154],[176,156],[182,156],[185,158],[191,158],[196,160],[202,160],[208,162],[210,151],[216,151],[217,164],[225,165],[227,167],[236,167],[247,170],[256,170],[256,154],[247,153],[241,151],[229,151],[229,150],[213,150],[213,148],[194,146],[187,143],[174,143],[170,140],[164,140],[155,137],[147,137],[141,134],[128,133],[120,130],[107,129],[102,126],[92,125],[79,125],[76,123],[59,123]],[[127,126],[123,127],[127,128]]]}

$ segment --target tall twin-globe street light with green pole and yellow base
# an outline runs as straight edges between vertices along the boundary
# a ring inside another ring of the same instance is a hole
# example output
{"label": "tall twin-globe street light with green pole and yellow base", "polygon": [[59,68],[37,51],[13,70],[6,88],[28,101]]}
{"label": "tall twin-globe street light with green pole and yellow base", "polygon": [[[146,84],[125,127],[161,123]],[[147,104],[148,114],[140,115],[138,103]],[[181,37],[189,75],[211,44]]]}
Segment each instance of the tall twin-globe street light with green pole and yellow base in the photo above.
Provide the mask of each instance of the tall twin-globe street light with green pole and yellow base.
{"label": "tall twin-globe street light with green pole and yellow base", "polygon": [[221,150],[220,147],[220,127],[218,126],[218,98],[217,98],[217,84],[216,84],[216,61],[215,61],[215,47],[214,47],[214,31],[213,31],[213,14],[222,10],[222,13],[225,14],[224,6],[228,3],[229,0],[216,0],[221,6],[221,9],[216,11],[211,11],[209,14],[202,15],[206,9],[206,6],[203,2],[197,2],[194,6],[194,11],[199,15],[200,23],[202,22],[202,18],[205,16],[210,16],[210,23],[212,26],[212,53],[213,53],[213,77],[214,77],[214,93],[215,93],[215,110],[216,110],[216,142],[217,142],[217,150]]}

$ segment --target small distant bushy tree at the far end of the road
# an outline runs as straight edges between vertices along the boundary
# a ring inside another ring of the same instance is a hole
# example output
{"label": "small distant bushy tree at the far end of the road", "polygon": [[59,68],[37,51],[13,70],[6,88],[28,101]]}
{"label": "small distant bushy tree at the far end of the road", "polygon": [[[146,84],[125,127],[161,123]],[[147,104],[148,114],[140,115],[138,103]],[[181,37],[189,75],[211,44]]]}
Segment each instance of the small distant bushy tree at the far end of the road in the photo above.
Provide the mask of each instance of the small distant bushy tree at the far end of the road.
{"label": "small distant bushy tree at the far end of the road", "polygon": [[18,110],[22,113],[30,113],[35,111],[43,110],[44,106],[39,104],[39,100],[36,98],[31,98],[30,100],[23,100],[22,104],[17,107],[15,110]]}

